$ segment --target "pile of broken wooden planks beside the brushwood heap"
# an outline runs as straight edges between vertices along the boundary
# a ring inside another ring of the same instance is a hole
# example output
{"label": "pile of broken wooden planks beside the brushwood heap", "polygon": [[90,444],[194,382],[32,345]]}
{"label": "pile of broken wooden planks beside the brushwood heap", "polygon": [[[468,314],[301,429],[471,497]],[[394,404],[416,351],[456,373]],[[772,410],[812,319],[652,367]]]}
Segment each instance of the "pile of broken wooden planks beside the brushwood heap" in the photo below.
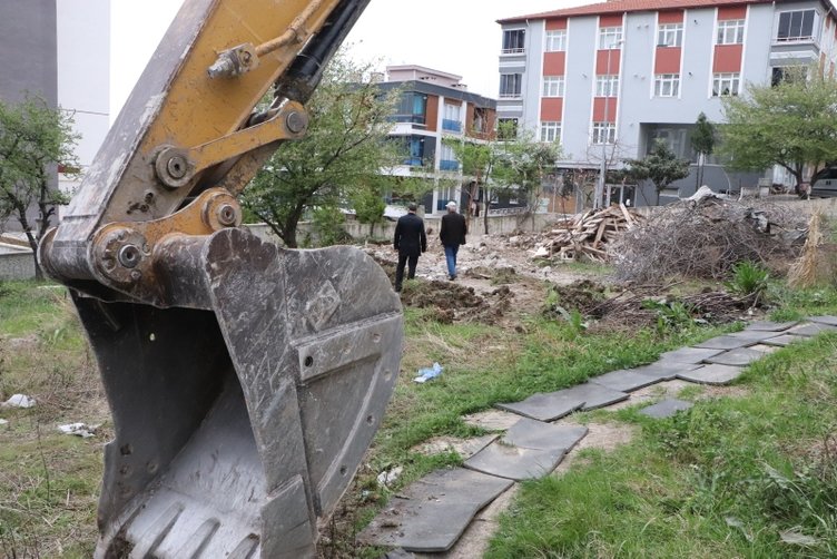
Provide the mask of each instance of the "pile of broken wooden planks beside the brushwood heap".
{"label": "pile of broken wooden planks beside the brushwood heap", "polygon": [[608,259],[608,244],[644,218],[624,204],[591,209],[563,227],[546,233],[543,243],[530,251],[534,258],[561,258],[594,262]]}

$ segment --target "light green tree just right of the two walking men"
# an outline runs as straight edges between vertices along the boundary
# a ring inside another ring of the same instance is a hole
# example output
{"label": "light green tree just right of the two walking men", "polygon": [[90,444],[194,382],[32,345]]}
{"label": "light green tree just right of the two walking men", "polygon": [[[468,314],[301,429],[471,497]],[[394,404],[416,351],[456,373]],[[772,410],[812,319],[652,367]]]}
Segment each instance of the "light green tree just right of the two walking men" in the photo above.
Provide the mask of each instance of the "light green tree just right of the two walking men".
{"label": "light green tree just right of the two walking men", "polygon": [[[506,128],[509,126],[510,128]],[[560,155],[558,144],[535,141],[526,133],[516,134],[511,124],[501,124],[496,138],[486,143],[445,139],[462,165],[466,189],[474,199],[483,189],[483,227],[489,233],[489,208],[503,193],[513,193],[532,209],[543,177],[553,169]]]}

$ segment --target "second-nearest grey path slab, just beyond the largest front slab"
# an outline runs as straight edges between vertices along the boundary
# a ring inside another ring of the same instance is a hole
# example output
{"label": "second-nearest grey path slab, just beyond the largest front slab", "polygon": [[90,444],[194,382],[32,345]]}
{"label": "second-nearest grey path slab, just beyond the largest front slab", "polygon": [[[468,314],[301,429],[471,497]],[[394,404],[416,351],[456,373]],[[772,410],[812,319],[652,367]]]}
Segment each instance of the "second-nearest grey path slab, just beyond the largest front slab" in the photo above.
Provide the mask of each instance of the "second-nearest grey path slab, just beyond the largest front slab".
{"label": "second-nearest grey path slab, just beyond the largest front slab", "polygon": [[465,460],[464,465],[510,480],[536,480],[554,470],[564,454],[565,449],[524,449],[496,441]]}

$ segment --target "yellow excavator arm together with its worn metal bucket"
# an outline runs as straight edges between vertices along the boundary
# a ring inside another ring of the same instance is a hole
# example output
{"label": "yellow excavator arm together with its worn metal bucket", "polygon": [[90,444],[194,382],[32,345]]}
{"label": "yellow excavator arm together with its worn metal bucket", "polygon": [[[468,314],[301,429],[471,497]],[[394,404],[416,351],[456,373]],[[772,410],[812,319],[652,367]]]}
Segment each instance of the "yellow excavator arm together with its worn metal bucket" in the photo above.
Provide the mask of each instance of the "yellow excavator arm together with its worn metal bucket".
{"label": "yellow excavator arm together with its worn metal bucket", "polygon": [[372,441],[401,356],[388,280],[257,238],[237,202],[304,137],[367,2],[186,0],[39,247],[114,415],[97,557],[313,556]]}

